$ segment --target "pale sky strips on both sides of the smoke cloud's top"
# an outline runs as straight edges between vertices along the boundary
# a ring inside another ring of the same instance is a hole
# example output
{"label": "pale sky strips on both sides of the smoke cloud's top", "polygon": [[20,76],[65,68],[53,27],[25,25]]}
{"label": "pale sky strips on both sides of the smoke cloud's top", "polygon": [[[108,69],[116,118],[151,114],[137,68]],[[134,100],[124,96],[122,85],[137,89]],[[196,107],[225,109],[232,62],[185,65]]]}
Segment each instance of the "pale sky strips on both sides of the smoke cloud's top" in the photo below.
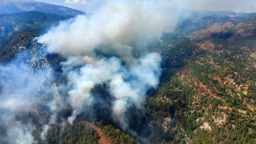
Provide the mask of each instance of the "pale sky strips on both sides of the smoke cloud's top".
{"label": "pale sky strips on both sides of the smoke cloud's top", "polygon": [[[36,0],[44,3],[58,4],[92,13],[107,0]],[[121,0],[122,1],[122,0]],[[151,0],[141,0],[151,1]],[[256,12],[256,0],[154,0],[170,8],[188,10],[218,10],[234,12]]]}

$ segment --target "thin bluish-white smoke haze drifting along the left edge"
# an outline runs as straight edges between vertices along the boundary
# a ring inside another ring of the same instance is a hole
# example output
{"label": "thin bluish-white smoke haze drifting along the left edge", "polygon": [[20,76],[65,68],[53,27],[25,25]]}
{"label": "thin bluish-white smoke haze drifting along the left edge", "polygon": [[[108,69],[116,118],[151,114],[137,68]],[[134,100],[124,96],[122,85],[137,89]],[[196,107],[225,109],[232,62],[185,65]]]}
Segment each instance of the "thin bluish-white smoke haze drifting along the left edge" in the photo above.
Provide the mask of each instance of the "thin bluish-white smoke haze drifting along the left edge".
{"label": "thin bluish-white smoke haze drifting along the left edge", "polygon": [[59,93],[63,90],[58,90],[63,88],[52,84],[54,74],[44,65],[44,54],[36,57],[22,52],[11,63],[0,64],[0,143],[33,143],[36,124],[45,132],[68,109]]}

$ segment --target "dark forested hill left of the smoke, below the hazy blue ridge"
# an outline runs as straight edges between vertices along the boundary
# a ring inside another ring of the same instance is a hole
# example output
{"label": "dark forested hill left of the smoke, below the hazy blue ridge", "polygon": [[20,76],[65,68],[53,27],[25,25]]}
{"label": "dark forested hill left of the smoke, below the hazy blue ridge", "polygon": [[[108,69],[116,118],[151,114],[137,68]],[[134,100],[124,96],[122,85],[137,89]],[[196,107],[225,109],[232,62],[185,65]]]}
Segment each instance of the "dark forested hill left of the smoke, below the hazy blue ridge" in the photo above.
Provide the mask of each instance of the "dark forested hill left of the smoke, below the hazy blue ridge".
{"label": "dark forested hill left of the smoke, below the hazy blue ridge", "polygon": [[42,35],[51,26],[72,16],[42,12],[0,14],[0,61],[7,60],[20,49],[30,47],[35,36]]}

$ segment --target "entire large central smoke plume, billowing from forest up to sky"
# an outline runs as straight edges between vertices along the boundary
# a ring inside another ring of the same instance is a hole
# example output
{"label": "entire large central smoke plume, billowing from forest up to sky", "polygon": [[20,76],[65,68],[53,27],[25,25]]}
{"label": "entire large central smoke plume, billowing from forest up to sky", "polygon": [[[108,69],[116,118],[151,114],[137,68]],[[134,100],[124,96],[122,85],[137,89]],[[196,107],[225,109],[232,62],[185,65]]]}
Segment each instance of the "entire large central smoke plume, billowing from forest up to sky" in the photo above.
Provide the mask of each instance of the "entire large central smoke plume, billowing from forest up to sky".
{"label": "entire large central smoke plume, billowing from forest up to sky", "polygon": [[160,55],[131,44],[156,40],[166,28],[172,29],[176,20],[166,17],[161,6],[149,1],[108,1],[90,19],[79,15],[36,39],[47,45],[48,52],[67,58],[61,65],[71,88],[72,108],[82,111],[90,106],[95,100],[92,88],[108,84],[114,98],[113,119],[126,129],[125,111],[130,106],[143,108],[145,94],[156,88],[161,75]]}

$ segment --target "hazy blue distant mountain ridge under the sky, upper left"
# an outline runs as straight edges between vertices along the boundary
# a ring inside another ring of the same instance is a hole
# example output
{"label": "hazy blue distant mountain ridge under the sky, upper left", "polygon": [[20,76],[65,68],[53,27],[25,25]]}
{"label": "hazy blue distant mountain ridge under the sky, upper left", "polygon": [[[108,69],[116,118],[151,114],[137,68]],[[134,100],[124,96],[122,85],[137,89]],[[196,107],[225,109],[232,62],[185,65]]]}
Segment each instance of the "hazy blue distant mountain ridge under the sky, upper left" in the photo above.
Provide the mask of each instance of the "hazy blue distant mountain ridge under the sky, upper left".
{"label": "hazy blue distant mountain ridge under the sky, upper left", "polygon": [[1,13],[17,13],[37,11],[43,13],[53,13],[56,15],[79,15],[84,12],[67,8],[65,6],[58,6],[54,4],[42,3],[33,0],[0,0],[0,14]]}

